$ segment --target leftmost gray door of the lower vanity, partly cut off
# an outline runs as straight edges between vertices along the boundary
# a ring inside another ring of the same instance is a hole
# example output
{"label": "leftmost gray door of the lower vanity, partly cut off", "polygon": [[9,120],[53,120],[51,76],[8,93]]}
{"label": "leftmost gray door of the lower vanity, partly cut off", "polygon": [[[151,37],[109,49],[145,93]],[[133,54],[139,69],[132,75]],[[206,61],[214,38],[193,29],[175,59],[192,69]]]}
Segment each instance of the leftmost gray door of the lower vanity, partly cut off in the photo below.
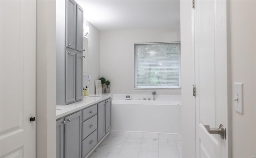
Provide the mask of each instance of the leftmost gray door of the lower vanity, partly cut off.
{"label": "leftmost gray door of the lower vanity, partly cut off", "polygon": [[64,158],[64,119],[56,122],[56,158]]}

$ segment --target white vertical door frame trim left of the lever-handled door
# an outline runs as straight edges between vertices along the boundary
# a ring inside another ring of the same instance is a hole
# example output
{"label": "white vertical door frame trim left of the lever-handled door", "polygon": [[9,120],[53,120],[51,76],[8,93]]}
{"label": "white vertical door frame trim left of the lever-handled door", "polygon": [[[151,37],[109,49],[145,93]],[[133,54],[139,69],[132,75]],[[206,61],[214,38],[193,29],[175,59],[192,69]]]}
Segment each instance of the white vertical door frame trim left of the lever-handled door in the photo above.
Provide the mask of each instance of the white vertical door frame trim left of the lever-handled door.
{"label": "white vertical door frame trim left of the lever-handled door", "polygon": [[181,95],[182,95],[182,157],[196,157],[194,82],[194,10],[192,1],[180,1]]}

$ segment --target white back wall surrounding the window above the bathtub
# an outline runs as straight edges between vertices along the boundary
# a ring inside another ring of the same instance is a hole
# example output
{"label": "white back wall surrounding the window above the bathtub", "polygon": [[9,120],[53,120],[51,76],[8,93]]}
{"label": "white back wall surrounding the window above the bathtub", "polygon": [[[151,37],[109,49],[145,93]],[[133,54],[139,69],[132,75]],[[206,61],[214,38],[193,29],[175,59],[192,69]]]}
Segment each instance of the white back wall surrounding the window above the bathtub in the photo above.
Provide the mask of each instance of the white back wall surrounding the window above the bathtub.
{"label": "white back wall surrounding the window above the bathtub", "polygon": [[172,41],[180,41],[180,29],[101,31],[100,76],[110,80],[110,93],[145,93],[134,91],[134,43]]}

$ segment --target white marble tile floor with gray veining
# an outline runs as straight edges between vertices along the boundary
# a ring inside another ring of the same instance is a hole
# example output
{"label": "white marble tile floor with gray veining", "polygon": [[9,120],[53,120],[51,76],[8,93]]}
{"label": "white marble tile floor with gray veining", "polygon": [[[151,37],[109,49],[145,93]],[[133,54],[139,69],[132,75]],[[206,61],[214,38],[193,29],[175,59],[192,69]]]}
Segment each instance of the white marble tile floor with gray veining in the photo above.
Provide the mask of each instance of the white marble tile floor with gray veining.
{"label": "white marble tile floor with gray veining", "polygon": [[181,158],[182,135],[114,132],[88,158]]}

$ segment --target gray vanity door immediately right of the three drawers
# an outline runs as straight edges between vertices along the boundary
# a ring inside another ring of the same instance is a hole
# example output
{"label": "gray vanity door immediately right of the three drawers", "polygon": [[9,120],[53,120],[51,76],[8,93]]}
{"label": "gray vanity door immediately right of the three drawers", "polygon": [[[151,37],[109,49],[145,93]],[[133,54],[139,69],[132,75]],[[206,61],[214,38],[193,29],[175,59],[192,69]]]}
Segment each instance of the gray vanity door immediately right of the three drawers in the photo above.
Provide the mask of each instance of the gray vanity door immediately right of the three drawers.
{"label": "gray vanity door immediately right of the three drawers", "polygon": [[98,141],[105,136],[105,101],[98,103]]}

